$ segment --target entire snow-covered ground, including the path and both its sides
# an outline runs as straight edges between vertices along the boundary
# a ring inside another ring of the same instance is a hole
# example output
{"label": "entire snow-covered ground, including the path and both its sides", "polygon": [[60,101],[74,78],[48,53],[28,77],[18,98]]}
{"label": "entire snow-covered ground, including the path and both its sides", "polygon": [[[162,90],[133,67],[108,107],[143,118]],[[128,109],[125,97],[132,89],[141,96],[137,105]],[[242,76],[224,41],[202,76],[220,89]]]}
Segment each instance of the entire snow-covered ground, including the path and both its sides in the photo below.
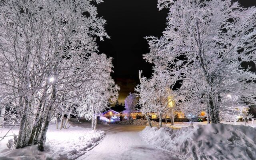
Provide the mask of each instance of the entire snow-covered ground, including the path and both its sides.
{"label": "entire snow-covered ground, including the path and both its sides", "polygon": [[[223,124],[229,122],[210,125],[194,122],[195,128],[188,127],[189,122],[175,122],[174,126],[163,123],[168,128],[144,129],[144,121],[134,121],[133,125],[99,122],[97,131],[91,131],[86,120],[80,120],[82,123],[71,120],[70,127],[62,130],[51,124],[46,151],[38,151],[36,145],[8,150],[6,143],[12,138],[8,136],[0,141],[0,160],[256,159],[256,128],[250,127],[251,122],[247,127],[244,122],[234,126]],[[157,122],[154,124],[158,126]],[[0,137],[6,129],[0,130]],[[18,128],[8,135],[13,133],[17,134]]]}

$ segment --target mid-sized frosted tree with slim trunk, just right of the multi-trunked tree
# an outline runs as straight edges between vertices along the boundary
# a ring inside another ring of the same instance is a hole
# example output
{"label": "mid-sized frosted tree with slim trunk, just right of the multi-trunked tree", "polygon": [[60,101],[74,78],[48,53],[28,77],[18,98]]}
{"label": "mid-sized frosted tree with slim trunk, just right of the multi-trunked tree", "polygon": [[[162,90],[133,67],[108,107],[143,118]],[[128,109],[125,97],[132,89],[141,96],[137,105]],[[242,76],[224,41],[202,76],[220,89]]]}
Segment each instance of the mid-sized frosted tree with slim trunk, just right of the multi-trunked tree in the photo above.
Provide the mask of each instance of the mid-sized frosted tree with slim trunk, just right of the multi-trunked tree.
{"label": "mid-sized frosted tree with slim trunk, just right of the multi-trunked tree", "polygon": [[[89,91],[80,98],[78,105],[78,116],[85,117],[92,121],[92,130],[96,129],[97,116],[109,108],[110,104],[116,102],[118,90],[120,88],[115,84],[110,76],[112,71],[112,58],[107,58],[105,54],[92,55],[94,64],[94,74],[91,77],[91,85],[84,86]],[[82,87],[83,88],[83,87]]]}

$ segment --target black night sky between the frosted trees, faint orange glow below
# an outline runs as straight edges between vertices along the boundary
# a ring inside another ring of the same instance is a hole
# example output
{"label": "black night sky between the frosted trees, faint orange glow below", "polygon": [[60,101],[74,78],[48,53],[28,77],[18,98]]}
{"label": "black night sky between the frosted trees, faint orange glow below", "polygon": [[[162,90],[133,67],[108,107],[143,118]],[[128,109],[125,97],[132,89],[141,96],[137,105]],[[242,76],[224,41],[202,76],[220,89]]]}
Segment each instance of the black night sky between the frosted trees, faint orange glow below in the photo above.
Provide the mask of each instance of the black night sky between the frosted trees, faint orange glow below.
{"label": "black night sky between the frosted trees, faint orange glow below", "polygon": [[[256,6],[256,0],[239,0],[245,7]],[[168,10],[159,11],[157,0],[104,0],[97,5],[98,16],[106,21],[110,39],[98,43],[101,53],[113,57],[115,82],[120,86],[119,102],[139,84],[138,70],[150,77],[152,65],[142,54],[149,52],[144,37],[160,37],[166,28]]]}

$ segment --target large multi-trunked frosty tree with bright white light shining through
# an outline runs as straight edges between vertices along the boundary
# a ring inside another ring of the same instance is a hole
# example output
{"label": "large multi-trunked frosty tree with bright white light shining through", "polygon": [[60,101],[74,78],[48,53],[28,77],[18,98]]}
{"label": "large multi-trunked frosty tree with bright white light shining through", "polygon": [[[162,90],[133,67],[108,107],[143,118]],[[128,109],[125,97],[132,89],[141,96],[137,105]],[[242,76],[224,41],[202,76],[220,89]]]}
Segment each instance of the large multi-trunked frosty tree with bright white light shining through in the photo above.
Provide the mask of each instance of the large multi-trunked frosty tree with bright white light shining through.
{"label": "large multi-trunked frosty tree with bright white light shining through", "polygon": [[94,74],[88,59],[97,52],[96,37],[108,38],[91,2],[0,2],[0,102],[20,124],[16,148],[34,143],[44,150],[56,108],[88,91],[80,86]]}

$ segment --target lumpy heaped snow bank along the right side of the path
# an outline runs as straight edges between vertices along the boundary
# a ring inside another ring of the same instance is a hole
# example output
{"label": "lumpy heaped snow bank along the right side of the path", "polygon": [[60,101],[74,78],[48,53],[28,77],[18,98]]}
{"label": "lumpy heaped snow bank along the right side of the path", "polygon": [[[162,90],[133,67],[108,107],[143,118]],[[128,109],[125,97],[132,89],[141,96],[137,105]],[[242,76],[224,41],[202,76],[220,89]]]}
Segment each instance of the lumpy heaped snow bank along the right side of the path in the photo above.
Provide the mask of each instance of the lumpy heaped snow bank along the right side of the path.
{"label": "lumpy heaped snow bank along the right side of the path", "polygon": [[207,124],[172,128],[149,128],[142,137],[152,145],[193,160],[255,160],[256,128],[243,125]]}

